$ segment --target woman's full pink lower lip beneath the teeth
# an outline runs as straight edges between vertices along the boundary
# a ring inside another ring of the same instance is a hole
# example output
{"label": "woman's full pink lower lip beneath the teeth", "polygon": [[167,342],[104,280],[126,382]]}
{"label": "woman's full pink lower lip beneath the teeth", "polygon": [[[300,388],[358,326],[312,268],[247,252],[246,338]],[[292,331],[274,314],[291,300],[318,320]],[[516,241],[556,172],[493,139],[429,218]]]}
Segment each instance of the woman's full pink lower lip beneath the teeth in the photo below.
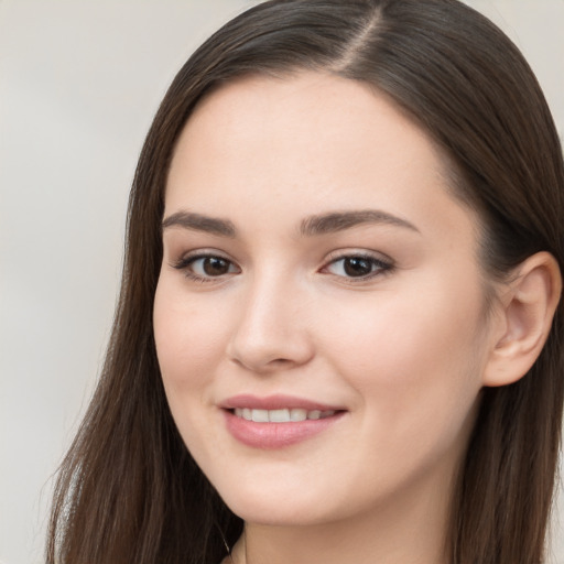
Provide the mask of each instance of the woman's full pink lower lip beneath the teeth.
{"label": "woman's full pink lower lip beneath the teeth", "polygon": [[227,410],[224,413],[227,430],[237,441],[247,446],[262,449],[283,448],[307,441],[332,426],[344,414],[344,412],[337,412],[329,417],[289,423],[256,423],[238,417]]}

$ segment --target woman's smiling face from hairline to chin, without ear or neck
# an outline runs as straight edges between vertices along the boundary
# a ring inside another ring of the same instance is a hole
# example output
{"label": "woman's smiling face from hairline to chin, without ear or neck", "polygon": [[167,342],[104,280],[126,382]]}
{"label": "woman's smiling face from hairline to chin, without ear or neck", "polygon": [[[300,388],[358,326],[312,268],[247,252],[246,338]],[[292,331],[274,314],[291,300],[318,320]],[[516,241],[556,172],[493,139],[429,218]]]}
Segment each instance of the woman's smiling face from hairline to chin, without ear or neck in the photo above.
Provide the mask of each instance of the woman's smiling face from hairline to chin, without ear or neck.
{"label": "woman's smiling face from hairline to chin, without ear or neck", "polygon": [[477,221],[388,99],[306,73],[214,93],[176,145],[163,245],[167,400],[237,514],[445,497],[488,356]]}

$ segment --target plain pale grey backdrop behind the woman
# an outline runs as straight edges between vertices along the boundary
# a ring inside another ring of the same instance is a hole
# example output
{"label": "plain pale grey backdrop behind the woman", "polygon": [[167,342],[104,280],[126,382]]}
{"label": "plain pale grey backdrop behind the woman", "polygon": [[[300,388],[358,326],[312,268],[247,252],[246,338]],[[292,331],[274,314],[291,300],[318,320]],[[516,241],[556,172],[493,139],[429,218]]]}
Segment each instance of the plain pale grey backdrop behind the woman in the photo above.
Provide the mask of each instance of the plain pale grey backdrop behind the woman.
{"label": "plain pale grey backdrop behind the woman", "polygon": [[[127,195],[152,116],[194,47],[250,3],[0,0],[3,564],[43,560],[50,476],[104,355]],[[522,48],[564,131],[564,0],[468,3]],[[552,562],[564,564],[555,531]]]}

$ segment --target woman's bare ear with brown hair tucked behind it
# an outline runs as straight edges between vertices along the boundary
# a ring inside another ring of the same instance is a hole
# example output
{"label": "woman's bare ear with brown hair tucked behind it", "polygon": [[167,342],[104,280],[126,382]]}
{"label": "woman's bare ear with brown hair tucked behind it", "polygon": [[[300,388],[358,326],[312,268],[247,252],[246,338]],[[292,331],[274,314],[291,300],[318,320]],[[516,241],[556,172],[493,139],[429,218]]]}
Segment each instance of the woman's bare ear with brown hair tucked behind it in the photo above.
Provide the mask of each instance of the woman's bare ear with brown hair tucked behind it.
{"label": "woman's bare ear with brown hair tucked behind it", "polygon": [[530,370],[549,336],[561,291],[560,268],[549,252],[538,252],[516,269],[492,318],[484,386],[513,383]]}

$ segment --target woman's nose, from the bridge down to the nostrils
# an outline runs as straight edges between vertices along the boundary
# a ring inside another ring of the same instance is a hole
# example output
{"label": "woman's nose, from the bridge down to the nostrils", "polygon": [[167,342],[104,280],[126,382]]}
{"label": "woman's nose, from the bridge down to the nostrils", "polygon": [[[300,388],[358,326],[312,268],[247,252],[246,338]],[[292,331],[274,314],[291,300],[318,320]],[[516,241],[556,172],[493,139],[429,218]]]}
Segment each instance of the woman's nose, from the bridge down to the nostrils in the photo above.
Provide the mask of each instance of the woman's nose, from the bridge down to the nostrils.
{"label": "woman's nose, from the bridge down to the nostrils", "polygon": [[314,355],[304,291],[288,280],[257,280],[246,290],[241,315],[227,346],[234,362],[257,373],[288,370]]}

